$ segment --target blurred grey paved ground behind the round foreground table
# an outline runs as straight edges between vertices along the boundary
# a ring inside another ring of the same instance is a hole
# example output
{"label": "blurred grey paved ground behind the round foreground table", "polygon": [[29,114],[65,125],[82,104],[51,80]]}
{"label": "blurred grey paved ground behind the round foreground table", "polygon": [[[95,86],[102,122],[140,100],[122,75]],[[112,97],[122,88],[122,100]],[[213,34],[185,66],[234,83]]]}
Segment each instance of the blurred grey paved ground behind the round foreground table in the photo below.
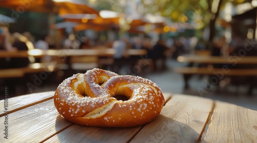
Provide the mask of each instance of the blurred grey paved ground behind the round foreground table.
{"label": "blurred grey paved ground behind the round foreground table", "polygon": [[[193,96],[201,96],[204,98],[210,98],[213,100],[224,101],[238,106],[243,106],[249,109],[257,110],[257,89],[254,89],[254,96],[246,96],[246,87],[233,87],[225,86],[221,90],[217,91],[215,88],[211,90],[203,90],[206,87],[206,78],[193,77],[189,84],[190,89],[183,89],[183,79],[181,74],[173,72],[173,68],[177,66],[184,66],[174,60],[168,59],[167,61],[168,70],[152,73],[148,72],[146,75],[141,75],[144,78],[148,78],[153,82],[157,83],[161,87],[163,92],[189,94]],[[125,70],[124,70],[125,71]],[[121,72],[124,72],[121,71]],[[126,73],[126,72],[124,72]],[[34,92],[56,90],[57,85],[51,86],[39,86]]]}

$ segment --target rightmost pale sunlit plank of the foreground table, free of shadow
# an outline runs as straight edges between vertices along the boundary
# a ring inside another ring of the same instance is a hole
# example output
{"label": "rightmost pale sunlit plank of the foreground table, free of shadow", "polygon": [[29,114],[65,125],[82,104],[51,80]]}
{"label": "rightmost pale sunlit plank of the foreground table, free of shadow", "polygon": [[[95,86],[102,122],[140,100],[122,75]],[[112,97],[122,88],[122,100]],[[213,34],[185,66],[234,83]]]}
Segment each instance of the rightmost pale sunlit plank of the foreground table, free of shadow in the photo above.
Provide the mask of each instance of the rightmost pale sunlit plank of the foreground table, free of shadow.
{"label": "rightmost pale sunlit plank of the foreground table, free of shadow", "polygon": [[257,111],[215,102],[215,109],[207,127],[202,137],[207,142],[256,142]]}

